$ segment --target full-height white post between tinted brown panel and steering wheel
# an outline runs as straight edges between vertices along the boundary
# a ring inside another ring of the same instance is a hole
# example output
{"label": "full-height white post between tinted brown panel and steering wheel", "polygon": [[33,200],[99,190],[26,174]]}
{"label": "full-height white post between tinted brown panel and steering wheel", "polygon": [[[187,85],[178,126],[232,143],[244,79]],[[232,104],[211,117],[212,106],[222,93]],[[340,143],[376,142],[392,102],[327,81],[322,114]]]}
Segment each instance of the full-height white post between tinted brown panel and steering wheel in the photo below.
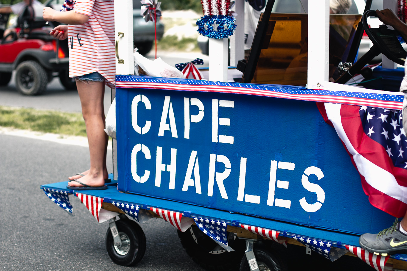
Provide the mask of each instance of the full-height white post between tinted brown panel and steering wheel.
{"label": "full-height white post between tinted brown panel and steering wheel", "polygon": [[328,81],[329,0],[308,2],[308,78],[309,89]]}

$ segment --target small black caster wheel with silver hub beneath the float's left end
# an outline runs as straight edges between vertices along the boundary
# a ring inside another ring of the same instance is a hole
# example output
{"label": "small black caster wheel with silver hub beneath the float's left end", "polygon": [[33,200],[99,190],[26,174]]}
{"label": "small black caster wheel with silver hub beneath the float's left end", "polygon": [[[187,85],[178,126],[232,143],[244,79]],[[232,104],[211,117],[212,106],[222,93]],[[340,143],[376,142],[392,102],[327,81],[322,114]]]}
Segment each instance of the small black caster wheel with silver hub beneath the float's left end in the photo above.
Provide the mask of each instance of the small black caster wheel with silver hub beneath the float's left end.
{"label": "small black caster wheel with silver hub beneath the float's left end", "polygon": [[[106,232],[106,249],[110,258],[118,265],[132,266],[140,262],[146,251],[146,236],[140,225],[130,219],[116,221],[122,239],[122,247],[114,245],[110,228]],[[123,245],[126,245],[123,247]]]}

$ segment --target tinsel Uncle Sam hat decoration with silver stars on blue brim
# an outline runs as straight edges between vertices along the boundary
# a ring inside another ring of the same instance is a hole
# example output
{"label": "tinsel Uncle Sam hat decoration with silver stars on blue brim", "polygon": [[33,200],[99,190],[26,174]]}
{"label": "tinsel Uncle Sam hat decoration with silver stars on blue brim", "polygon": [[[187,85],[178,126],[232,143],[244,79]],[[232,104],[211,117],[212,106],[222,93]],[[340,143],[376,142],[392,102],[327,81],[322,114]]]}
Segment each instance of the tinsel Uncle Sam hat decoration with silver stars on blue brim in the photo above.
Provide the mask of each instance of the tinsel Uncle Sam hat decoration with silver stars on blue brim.
{"label": "tinsel Uncle Sam hat decoration with silver stars on blue brim", "polygon": [[197,21],[199,34],[211,39],[233,35],[236,20],[229,15],[230,0],[201,0],[204,16]]}

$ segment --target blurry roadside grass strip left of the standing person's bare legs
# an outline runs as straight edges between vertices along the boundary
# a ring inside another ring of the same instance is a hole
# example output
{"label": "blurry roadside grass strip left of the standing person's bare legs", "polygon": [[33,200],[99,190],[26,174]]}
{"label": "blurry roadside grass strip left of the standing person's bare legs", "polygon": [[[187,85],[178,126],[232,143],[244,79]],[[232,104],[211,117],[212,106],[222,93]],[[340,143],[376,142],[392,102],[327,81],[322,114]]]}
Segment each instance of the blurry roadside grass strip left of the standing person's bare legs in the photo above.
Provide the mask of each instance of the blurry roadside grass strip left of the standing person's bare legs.
{"label": "blurry roadside grass strip left of the standing person's bare legs", "polygon": [[0,126],[22,130],[86,136],[81,113],[0,106]]}

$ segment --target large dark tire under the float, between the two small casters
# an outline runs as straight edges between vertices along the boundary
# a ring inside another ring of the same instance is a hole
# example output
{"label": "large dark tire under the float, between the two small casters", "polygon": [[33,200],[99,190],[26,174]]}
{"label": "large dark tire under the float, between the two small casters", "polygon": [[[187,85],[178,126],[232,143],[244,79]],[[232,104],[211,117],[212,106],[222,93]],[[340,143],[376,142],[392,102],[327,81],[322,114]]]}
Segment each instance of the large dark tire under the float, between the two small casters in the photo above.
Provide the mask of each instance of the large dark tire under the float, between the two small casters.
{"label": "large dark tire under the float, between the two small casters", "polygon": [[244,255],[245,241],[227,232],[228,243],[235,251],[225,251],[196,225],[185,232],[178,231],[178,237],[188,256],[201,267],[211,271],[236,271]]}

